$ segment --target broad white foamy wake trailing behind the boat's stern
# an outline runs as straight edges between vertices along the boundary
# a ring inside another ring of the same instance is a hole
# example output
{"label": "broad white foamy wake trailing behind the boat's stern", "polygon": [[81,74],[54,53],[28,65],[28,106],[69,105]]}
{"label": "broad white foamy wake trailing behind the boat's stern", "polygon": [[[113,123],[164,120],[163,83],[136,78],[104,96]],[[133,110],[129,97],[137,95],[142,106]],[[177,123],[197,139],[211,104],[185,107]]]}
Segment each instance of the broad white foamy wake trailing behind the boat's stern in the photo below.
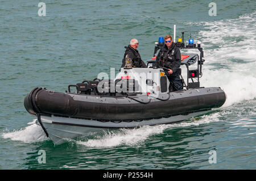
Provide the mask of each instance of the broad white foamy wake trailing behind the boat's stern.
{"label": "broad white foamy wake trailing behind the boat's stern", "polygon": [[219,86],[224,107],[256,97],[256,12],[237,19],[201,22],[205,64],[201,85]]}

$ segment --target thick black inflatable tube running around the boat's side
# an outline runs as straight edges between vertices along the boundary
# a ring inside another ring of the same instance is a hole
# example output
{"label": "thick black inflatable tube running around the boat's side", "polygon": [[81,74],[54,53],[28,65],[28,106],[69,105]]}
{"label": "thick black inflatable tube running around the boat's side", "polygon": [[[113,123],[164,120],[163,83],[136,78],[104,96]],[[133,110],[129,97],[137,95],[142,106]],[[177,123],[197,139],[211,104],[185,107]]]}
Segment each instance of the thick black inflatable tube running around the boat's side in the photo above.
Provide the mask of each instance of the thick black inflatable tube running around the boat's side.
{"label": "thick black inflatable tube running around the boat's side", "polygon": [[[211,108],[221,107],[224,104],[226,99],[224,91],[216,88],[209,94],[206,92],[208,91],[205,90],[202,95],[194,94],[191,96],[187,92],[187,96],[184,97],[179,95],[181,94],[180,92],[171,92],[172,96],[169,94],[171,98],[169,97],[168,100],[163,99],[164,101],[159,99],[152,101],[153,99],[149,99],[148,102],[144,102],[143,100],[148,98],[147,95],[109,96],[103,97],[99,101],[100,96],[67,94],[37,88],[33,89],[24,99],[24,106],[32,115],[44,113],[80,117],[82,119],[128,121],[210,110]],[[178,96],[175,98],[173,94],[179,95],[179,98]],[[75,97],[76,99],[74,99]],[[138,99],[142,99],[142,101]]]}

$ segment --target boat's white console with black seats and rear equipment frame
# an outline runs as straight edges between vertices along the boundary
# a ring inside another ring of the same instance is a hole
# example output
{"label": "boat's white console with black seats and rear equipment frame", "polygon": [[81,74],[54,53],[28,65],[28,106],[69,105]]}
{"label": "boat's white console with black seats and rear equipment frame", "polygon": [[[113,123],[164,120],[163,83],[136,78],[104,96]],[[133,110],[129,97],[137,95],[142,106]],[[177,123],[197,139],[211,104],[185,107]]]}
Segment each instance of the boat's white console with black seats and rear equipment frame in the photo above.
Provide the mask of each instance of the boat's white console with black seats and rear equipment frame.
{"label": "boat's white console with black seats and rear equipment frame", "polygon": [[[120,69],[115,79],[98,79],[93,81],[83,81],[76,85],[69,85],[68,92],[71,87],[76,87],[76,94],[101,95],[101,96],[122,96],[122,95],[154,95],[169,92],[170,82],[168,81],[168,69],[156,68],[154,66],[156,56],[159,50],[164,46],[163,37],[159,37],[159,42],[155,43],[154,57],[147,61],[147,68],[133,68],[132,61],[126,57],[126,65]],[[181,54],[181,66],[187,68],[187,81],[184,80],[180,69],[180,81],[185,89],[194,89],[200,87],[200,77],[202,73],[202,65],[204,62],[204,52],[200,44],[193,44],[189,41],[188,45],[181,43],[180,39],[176,43],[177,47],[182,49],[198,49],[197,53]],[[189,66],[197,62],[196,69],[190,69]],[[67,91],[66,91],[67,92]],[[75,92],[73,92],[75,93]]]}

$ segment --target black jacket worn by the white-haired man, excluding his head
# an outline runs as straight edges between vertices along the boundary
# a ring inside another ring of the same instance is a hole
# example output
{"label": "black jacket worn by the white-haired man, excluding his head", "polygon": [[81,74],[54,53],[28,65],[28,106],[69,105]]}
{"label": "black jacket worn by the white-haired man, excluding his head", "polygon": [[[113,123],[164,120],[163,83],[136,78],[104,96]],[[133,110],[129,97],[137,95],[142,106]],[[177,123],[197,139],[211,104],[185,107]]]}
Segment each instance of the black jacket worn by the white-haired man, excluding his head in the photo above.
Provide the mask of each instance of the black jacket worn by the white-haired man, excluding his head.
{"label": "black jacket worn by the white-haired man, excluding his head", "polygon": [[125,47],[125,55],[123,56],[123,62],[121,68],[125,66],[125,57],[128,54],[131,60],[133,61],[133,68],[147,68],[147,65],[141,60],[141,55],[139,54],[139,51],[137,49],[134,49],[131,47],[131,45],[128,45],[128,47]]}

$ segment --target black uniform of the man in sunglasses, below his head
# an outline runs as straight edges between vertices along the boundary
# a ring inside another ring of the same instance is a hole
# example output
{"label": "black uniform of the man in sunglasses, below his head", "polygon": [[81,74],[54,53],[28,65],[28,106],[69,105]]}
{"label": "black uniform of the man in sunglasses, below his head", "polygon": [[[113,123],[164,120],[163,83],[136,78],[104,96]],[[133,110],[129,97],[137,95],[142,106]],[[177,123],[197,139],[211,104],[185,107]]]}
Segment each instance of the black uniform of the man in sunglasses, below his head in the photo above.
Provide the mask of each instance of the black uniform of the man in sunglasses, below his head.
{"label": "black uniform of the man in sunglasses, below his head", "polygon": [[183,84],[180,79],[180,64],[180,50],[176,47],[175,43],[172,43],[169,49],[167,45],[164,45],[162,49],[160,49],[156,57],[155,66],[171,69],[174,72],[172,74],[167,73],[167,78],[170,81],[169,91],[183,89]]}

